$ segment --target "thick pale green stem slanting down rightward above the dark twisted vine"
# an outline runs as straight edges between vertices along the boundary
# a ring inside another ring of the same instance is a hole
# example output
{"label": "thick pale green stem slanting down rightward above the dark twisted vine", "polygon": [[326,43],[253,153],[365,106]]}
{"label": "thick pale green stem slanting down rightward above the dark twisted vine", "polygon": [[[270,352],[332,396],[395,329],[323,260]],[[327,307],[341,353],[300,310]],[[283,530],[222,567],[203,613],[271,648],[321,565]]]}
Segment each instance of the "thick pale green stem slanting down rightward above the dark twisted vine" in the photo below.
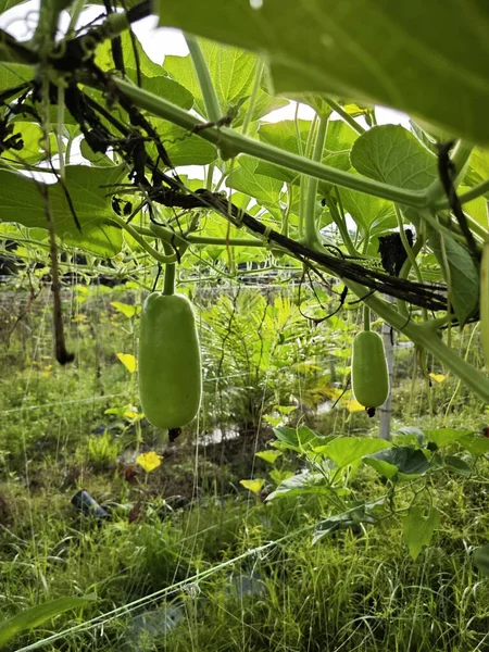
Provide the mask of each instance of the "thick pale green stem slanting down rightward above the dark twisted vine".
{"label": "thick pale green stem slanting down rightward above the dark twisted vine", "polygon": [[[188,131],[192,131],[198,125],[203,126],[204,124],[198,117],[185,111],[185,109],[172,104],[172,102],[168,102],[164,98],[156,97],[142,88],[133,86],[124,79],[114,77],[113,82],[139,109],[149,111],[158,117],[168,120]],[[383,184],[367,177],[336,170],[335,167],[323,165],[316,161],[310,161],[292,152],[284,151],[272,145],[242,136],[226,127],[201,128],[197,133],[197,136],[221,148],[223,154],[229,159],[237,156],[239,153],[249,154],[256,159],[288,167],[300,174],[305,174],[344,188],[351,188],[359,192],[383,197],[384,199],[414,208],[428,205],[425,192],[398,188],[390,184]]]}

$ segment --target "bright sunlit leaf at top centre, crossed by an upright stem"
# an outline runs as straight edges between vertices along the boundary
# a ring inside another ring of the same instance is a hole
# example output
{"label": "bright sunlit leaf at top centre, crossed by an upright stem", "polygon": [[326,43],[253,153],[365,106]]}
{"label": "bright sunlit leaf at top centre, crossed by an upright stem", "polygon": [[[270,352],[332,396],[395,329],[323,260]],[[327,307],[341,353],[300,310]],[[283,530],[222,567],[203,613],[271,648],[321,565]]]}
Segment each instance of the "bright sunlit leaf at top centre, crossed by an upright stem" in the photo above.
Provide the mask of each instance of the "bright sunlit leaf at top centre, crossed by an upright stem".
{"label": "bright sunlit leaf at top centre, crossed by an upright stem", "polygon": [[[209,40],[202,40],[200,47],[224,115],[238,101],[251,96],[258,58],[250,52],[237,48],[223,48]],[[205,104],[190,55],[165,57],[164,68],[173,79],[188,88],[196,98],[196,110],[206,116]],[[265,77],[263,77],[251,120],[258,120],[285,104],[287,104],[287,100],[273,98],[266,92]],[[233,120],[233,126],[237,127],[242,124],[248,108],[249,100],[240,105],[238,115]]]}

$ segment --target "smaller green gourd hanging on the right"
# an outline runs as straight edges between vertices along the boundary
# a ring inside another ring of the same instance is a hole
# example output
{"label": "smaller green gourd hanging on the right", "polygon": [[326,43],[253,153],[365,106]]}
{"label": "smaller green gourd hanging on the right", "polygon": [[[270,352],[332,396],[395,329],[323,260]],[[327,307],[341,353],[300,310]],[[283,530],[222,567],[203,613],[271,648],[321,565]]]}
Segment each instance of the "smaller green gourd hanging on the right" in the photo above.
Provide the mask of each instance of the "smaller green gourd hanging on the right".
{"label": "smaller green gourd hanging on the right", "polygon": [[351,384],[355,399],[364,408],[378,408],[389,394],[389,375],[383,338],[363,330],[353,340]]}

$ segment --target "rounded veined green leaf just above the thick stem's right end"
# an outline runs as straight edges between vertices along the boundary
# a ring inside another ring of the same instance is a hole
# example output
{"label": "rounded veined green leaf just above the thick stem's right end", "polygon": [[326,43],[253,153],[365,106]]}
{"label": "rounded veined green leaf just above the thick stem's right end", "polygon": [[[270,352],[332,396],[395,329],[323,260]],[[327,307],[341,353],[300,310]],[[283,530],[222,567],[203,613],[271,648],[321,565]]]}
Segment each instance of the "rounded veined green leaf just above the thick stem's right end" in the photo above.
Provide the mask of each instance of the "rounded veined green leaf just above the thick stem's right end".
{"label": "rounded veined green leaf just above the thick stem's right end", "polygon": [[351,150],[360,174],[409,190],[424,190],[437,178],[437,159],[400,125],[373,127]]}

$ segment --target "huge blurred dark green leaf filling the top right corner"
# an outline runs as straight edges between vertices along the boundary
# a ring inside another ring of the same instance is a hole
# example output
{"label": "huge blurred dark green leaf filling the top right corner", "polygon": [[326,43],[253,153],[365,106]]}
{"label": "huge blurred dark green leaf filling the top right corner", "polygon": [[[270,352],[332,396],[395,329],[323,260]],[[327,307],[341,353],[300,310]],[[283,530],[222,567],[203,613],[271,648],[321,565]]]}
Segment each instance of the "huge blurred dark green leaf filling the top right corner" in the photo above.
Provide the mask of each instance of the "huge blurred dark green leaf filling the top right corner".
{"label": "huge blurred dark green leaf filling the top right corner", "polygon": [[264,53],[277,93],[330,93],[384,104],[489,143],[486,0],[263,0],[256,5],[160,2],[160,24]]}

